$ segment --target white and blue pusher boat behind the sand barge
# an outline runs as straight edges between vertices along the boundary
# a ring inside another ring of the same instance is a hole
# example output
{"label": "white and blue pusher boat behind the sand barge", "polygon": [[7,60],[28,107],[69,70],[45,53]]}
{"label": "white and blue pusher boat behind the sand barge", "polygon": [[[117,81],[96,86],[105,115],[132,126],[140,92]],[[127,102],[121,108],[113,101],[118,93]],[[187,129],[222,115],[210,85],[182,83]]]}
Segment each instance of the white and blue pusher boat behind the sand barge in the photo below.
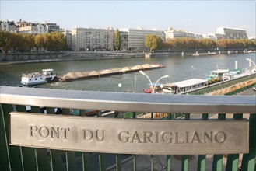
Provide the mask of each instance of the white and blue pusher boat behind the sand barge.
{"label": "white and blue pusher boat behind the sand barge", "polygon": [[30,86],[53,82],[57,78],[57,73],[53,69],[43,69],[42,72],[31,72],[23,74],[21,84]]}

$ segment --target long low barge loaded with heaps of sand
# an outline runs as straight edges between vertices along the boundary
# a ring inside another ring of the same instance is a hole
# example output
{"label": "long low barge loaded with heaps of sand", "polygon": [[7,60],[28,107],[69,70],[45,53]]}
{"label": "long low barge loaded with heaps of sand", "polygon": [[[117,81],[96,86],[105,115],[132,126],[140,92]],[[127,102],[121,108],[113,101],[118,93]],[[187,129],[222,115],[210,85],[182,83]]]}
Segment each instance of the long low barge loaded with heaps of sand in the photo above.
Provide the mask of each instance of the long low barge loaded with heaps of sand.
{"label": "long low barge loaded with heaps of sand", "polygon": [[158,69],[164,68],[163,65],[160,64],[145,64],[145,65],[135,65],[132,67],[124,67],[124,68],[112,68],[112,69],[102,69],[97,71],[89,71],[89,72],[68,72],[65,75],[58,75],[58,80],[60,82],[71,82],[78,79],[91,79],[96,77],[103,77],[108,75],[119,75],[128,72],[139,72],[139,70],[150,70],[150,69]]}

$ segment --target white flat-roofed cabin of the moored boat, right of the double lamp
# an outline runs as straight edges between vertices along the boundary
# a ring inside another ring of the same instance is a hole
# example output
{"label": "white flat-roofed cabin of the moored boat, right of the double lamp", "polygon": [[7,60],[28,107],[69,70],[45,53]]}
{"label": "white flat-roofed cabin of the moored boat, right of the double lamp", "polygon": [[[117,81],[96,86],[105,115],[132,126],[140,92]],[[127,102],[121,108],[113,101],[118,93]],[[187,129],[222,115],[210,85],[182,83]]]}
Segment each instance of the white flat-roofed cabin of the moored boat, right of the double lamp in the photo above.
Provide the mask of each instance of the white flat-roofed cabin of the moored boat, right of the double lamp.
{"label": "white flat-roofed cabin of the moored boat, right of the double lamp", "polygon": [[181,92],[188,92],[191,89],[198,89],[199,87],[207,86],[206,79],[187,79],[181,82],[167,83],[163,85],[163,92],[180,94]]}

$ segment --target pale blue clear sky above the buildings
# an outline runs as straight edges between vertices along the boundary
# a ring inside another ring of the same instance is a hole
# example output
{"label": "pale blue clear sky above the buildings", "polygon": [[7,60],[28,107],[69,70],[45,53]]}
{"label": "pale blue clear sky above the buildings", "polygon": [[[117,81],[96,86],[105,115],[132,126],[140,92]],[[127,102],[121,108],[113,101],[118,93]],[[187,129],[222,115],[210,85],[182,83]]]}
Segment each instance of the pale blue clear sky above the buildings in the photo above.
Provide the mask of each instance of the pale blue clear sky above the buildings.
{"label": "pale blue clear sky above the buildings", "polygon": [[0,0],[2,21],[44,21],[61,28],[106,29],[144,28],[167,30],[172,27],[192,33],[216,33],[226,26],[256,36],[256,0],[250,1],[68,1]]}

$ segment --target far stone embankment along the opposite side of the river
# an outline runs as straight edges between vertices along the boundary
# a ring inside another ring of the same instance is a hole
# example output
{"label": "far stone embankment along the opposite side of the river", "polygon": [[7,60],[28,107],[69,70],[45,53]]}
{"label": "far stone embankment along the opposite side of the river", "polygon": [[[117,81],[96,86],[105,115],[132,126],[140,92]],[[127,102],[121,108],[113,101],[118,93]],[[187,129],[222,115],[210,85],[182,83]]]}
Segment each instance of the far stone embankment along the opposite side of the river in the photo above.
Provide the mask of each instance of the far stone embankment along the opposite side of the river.
{"label": "far stone embankment along the opposite side of the river", "polygon": [[[177,50],[177,51],[156,51],[151,58],[159,56],[171,55],[193,55],[193,54],[244,54],[255,51],[245,50]],[[41,63],[41,62],[57,62],[57,61],[83,61],[83,60],[100,60],[114,58],[145,58],[146,51],[67,51],[52,53],[1,53],[0,65],[15,65],[23,63]]]}

